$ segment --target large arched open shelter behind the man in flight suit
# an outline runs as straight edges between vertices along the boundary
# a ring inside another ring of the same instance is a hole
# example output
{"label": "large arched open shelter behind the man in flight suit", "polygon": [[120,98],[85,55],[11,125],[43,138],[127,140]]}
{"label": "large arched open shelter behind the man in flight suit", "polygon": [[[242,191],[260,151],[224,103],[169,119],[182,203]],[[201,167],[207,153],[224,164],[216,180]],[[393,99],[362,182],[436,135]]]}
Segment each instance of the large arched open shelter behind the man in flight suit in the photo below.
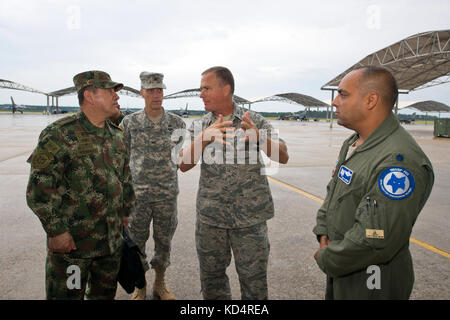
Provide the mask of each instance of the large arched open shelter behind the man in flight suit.
{"label": "large arched open shelter behind the man in flight suit", "polygon": [[[422,32],[400,40],[360,60],[332,80],[322,90],[331,90],[331,101],[339,82],[352,70],[382,66],[397,80],[399,93],[407,94],[450,82],[450,29]],[[395,113],[398,111],[398,99]]]}

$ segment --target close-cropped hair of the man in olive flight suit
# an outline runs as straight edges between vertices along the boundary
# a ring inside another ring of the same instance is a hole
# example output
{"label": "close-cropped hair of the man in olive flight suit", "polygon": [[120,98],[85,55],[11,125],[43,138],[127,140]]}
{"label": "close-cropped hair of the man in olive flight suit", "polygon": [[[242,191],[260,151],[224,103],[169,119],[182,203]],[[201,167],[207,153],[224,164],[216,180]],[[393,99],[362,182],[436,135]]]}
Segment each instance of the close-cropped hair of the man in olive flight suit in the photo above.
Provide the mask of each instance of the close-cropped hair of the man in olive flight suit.
{"label": "close-cropped hair of the man in olive flight suit", "polygon": [[361,74],[358,83],[361,94],[376,91],[383,104],[391,111],[398,97],[397,81],[392,73],[386,68],[376,66],[367,66],[354,71]]}

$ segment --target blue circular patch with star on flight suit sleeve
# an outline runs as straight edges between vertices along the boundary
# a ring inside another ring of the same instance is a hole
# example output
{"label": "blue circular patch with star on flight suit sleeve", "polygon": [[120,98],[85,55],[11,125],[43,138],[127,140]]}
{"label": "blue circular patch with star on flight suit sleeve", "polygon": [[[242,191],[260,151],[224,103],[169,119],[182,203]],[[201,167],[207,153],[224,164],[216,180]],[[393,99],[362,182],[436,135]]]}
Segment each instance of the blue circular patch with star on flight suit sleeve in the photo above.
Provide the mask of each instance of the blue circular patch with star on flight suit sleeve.
{"label": "blue circular patch with star on flight suit sleeve", "polygon": [[378,178],[378,186],[382,194],[393,200],[408,198],[414,191],[414,177],[405,168],[390,167]]}

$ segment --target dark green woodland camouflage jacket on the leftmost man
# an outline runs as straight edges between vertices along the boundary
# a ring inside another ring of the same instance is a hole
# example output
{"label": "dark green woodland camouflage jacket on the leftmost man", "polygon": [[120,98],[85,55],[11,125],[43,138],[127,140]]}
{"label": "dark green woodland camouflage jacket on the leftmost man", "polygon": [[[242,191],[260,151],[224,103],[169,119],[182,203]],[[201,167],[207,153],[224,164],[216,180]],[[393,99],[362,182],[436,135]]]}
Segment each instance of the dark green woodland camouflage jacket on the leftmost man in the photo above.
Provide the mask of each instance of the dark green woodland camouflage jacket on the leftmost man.
{"label": "dark green woodland camouflage jacket on the leftmost man", "polygon": [[49,237],[69,232],[73,258],[115,252],[135,195],[120,128],[91,124],[83,112],[47,126],[28,159],[28,206]]}

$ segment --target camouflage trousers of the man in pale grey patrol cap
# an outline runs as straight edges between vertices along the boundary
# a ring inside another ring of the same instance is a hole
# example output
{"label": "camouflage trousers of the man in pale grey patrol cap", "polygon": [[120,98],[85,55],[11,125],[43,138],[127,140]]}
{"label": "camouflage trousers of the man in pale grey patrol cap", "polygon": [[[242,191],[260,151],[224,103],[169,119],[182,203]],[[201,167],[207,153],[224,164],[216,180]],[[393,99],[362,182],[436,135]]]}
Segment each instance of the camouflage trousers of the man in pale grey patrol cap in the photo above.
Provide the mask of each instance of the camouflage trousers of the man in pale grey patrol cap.
{"label": "camouflage trousers of the man in pale grey patrol cap", "polygon": [[127,233],[141,251],[144,271],[150,269],[145,244],[150,237],[150,223],[153,220],[155,249],[150,264],[153,269],[170,265],[172,238],[178,225],[177,199],[152,202],[148,193],[136,192],[136,207],[130,216]]}

